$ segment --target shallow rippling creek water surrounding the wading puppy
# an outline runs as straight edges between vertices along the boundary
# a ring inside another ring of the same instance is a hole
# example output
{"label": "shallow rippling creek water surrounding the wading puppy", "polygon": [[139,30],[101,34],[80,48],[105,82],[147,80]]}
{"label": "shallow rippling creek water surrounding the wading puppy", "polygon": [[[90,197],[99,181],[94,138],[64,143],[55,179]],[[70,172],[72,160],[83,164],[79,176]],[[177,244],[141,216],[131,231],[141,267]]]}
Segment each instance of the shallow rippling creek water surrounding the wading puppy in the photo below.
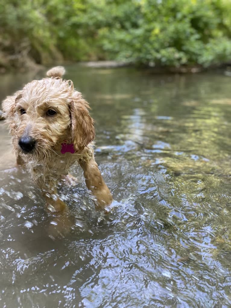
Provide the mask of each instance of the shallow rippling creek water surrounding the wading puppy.
{"label": "shallow rippling creek water surrounding the wading puppy", "polygon": [[[115,207],[97,213],[73,168],[68,210],[46,213],[1,122],[0,306],[230,307],[231,79],[67,70]],[[2,76],[1,98],[42,76]]]}

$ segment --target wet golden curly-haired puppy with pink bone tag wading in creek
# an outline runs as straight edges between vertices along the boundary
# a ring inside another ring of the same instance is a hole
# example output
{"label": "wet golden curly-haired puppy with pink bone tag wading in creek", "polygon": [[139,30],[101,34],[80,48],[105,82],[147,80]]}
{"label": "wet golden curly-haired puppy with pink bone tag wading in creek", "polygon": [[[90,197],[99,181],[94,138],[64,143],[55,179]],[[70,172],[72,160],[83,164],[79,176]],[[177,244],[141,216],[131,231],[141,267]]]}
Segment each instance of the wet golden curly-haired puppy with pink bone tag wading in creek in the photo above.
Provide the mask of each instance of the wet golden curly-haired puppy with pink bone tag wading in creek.
{"label": "wet golden curly-haired puppy with pink bone tag wading in creek", "polygon": [[89,105],[71,80],[63,80],[63,67],[47,71],[47,78],[27,83],[2,103],[13,136],[17,164],[24,165],[46,198],[46,207],[60,212],[65,203],[57,184],[71,180],[70,167],[79,163],[96,208],[112,202],[94,159],[95,129]]}

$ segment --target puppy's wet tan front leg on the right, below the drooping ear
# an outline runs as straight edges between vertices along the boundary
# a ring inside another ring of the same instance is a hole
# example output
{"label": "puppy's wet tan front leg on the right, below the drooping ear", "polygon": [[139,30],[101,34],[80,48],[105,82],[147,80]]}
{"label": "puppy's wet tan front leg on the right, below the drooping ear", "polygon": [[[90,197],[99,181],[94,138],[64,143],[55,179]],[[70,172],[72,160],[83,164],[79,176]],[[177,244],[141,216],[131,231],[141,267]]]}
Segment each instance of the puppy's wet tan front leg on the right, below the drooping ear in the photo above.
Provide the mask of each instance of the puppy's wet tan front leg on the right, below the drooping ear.
{"label": "puppy's wet tan front leg on the right, below the drooping ear", "polygon": [[80,160],[79,165],[83,168],[87,188],[91,190],[92,195],[96,198],[95,208],[104,209],[107,205],[111,204],[113,198],[103,180],[94,157],[88,161]]}

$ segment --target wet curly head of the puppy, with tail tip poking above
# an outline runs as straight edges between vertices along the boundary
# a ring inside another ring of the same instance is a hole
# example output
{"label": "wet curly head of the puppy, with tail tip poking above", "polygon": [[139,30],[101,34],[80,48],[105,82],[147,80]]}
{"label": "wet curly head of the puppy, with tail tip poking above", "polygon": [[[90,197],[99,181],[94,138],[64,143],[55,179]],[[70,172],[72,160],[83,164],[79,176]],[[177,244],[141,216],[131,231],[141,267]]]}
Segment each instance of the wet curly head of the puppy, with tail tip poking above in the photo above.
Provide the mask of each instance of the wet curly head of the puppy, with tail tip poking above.
{"label": "wet curly head of the puppy, with tail tip poking above", "polygon": [[63,80],[63,67],[54,67],[47,78],[33,80],[2,103],[14,147],[29,157],[46,157],[71,143],[75,152],[95,138],[89,105],[71,80]]}

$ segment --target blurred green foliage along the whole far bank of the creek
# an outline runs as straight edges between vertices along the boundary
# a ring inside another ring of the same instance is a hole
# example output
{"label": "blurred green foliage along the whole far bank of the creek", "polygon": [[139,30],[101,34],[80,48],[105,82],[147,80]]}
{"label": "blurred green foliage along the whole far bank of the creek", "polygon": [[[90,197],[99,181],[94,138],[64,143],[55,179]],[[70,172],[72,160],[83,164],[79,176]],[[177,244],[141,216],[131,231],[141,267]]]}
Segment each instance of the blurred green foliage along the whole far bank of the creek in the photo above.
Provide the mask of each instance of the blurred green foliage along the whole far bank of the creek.
{"label": "blurred green foliage along the whole far bank of the creek", "polygon": [[0,67],[231,61],[230,0],[0,0]]}

